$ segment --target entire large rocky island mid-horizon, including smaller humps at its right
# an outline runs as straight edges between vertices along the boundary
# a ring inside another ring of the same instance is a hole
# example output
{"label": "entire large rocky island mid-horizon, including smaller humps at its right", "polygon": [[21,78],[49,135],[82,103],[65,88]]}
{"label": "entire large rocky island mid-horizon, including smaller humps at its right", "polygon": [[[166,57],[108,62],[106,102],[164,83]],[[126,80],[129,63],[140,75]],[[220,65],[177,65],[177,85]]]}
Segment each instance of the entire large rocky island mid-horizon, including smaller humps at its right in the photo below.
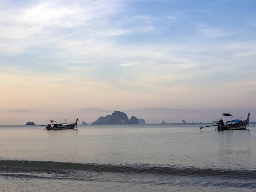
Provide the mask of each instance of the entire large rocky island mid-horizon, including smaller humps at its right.
{"label": "entire large rocky island mid-horizon, including smaller humps at its right", "polygon": [[92,125],[113,125],[113,124],[145,124],[144,119],[137,119],[132,116],[128,119],[128,116],[121,111],[114,111],[111,115],[100,116]]}

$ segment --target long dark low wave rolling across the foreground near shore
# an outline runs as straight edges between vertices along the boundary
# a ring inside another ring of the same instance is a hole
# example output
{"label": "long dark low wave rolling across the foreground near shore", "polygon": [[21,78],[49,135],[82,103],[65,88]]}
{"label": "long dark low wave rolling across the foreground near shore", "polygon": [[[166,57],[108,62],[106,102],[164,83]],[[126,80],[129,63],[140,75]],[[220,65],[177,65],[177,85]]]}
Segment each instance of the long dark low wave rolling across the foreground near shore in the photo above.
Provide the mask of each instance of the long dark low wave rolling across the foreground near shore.
{"label": "long dark low wave rolling across the foreground near shore", "polygon": [[201,169],[196,167],[153,166],[140,165],[113,165],[98,163],[65,163],[54,161],[28,161],[28,160],[0,160],[1,172],[12,170],[36,170],[42,172],[80,170],[89,172],[112,172],[124,174],[157,174],[177,176],[224,176],[256,178],[256,170],[230,170],[230,169]]}

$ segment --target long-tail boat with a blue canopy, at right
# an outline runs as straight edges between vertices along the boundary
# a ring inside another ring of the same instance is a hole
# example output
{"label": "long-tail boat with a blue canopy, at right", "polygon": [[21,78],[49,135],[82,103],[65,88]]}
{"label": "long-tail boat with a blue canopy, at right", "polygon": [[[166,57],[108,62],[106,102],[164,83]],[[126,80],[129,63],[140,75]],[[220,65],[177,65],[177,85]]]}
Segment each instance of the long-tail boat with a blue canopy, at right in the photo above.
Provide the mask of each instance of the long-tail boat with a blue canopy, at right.
{"label": "long-tail boat with a blue canopy, at right", "polygon": [[[226,124],[223,122],[223,117],[226,116],[227,117],[227,121]],[[247,129],[247,127],[249,126],[249,117],[250,117],[250,113],[248,113],[247,119],[243,121],[243,119],[233,119],[233,116],[230,115],[229,113],[222,113],[221,116],[221,120],[219,120],[216,124],[217,125],[209,125],[209,126],[205,126],[205,127],[213,127],[213,126],[217,126],[217,128],[215,130],[218,131],[224,131],[224,130],[243,130],[243,129]],[[228,120],[228,118],[230,118]],[[202,129],[204,127],[200,127],[200,129]]]}

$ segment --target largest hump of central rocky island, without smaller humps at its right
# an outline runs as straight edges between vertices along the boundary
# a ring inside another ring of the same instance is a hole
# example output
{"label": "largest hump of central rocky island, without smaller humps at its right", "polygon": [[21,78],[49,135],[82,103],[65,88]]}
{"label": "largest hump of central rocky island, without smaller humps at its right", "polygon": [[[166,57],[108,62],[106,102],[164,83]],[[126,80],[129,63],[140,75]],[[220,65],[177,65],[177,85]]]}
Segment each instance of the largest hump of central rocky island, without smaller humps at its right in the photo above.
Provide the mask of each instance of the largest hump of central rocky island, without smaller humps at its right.
{"label": "largest hump of central rocky island, without smaller humps at its right", "polygon": [[101,116],[92,125],[103,124],[129,124],[128,116],[121,111],[114,111],[111,115]]}

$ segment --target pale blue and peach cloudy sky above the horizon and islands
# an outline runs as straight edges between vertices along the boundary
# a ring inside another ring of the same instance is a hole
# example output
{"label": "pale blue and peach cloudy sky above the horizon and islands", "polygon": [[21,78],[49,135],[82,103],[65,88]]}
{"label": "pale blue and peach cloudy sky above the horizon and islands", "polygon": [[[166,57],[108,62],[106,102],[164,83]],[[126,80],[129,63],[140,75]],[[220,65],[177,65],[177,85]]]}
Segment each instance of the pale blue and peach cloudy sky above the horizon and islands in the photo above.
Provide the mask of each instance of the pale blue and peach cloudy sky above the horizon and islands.
{"label": "pale blue and peach cloudy sky above the horizon and islands", "polygon": [[0,0],[0,125],[256,121],[255,0]]}

